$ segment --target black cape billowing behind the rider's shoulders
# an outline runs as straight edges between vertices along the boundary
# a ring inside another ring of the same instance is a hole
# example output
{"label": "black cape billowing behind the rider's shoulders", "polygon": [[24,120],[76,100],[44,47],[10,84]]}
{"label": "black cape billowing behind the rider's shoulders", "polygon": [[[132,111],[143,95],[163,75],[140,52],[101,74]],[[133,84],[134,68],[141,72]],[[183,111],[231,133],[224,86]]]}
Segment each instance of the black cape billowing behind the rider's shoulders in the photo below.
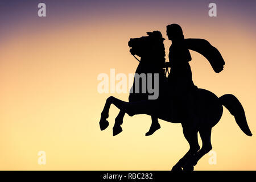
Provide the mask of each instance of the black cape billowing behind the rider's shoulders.
{"label": "black cape billowing behind the rider's shoulders", "polygon": [[204,39],[185,39],[187,48],[196,51],[203,55],[212,65],[214,72],[220,73],[225,65],[225,61],[221,53],[213,47],[207,40]]}

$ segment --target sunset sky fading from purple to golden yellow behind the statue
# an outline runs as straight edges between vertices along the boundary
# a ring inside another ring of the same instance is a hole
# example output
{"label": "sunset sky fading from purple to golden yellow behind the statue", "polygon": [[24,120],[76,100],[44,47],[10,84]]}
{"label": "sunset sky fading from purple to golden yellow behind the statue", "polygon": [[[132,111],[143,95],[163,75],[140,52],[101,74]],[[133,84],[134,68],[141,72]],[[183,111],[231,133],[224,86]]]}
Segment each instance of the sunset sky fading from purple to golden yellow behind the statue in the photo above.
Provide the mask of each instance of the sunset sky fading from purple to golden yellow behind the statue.
{"label": "sunset sky fading from purple to golden yellow behind the statue", "polygon": [[[38,3],[46,17],[38,17]],[[209,17],[208,5],[217,5]],[[112,136],[98,122],[105,100],[100,73],[134,73],[130,38],[159,30],[166,55],[171,42],[166,26],[178,23],[185,38],[207,39],[226,65],[214,73],[191,51],[193,80],[218,97],[231,93],[242,103],[254,134],[247,137],[224,109],[212,130],[217,164],[205,155],[196,170],[256,169],[256,23],[255,1],[0,1],[0,169],[1,170],[169,170],[188,151],[180,124],[144,137],[151,118],[125,115],[123,132]],[[166,57],[168,60],[168,56]],[[229,132],[226,133],[226,130]],[[200,142],[201,144],[201,142]],[[46,151],[46,165],[38,164]]]}

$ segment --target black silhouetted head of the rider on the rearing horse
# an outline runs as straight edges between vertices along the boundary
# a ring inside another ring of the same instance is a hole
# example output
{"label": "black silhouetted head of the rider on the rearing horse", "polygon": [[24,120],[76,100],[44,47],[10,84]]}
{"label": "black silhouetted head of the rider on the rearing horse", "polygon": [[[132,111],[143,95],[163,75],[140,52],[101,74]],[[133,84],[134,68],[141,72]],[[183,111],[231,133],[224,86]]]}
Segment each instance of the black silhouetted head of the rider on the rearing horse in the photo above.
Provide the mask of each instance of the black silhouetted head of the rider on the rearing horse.
{"label": "black silhouetted head of the rider on the rearing horse", "polygon": [[184,39],[183,31],[179,24],[168,24],[166,26],[166,33],[169,40]]}

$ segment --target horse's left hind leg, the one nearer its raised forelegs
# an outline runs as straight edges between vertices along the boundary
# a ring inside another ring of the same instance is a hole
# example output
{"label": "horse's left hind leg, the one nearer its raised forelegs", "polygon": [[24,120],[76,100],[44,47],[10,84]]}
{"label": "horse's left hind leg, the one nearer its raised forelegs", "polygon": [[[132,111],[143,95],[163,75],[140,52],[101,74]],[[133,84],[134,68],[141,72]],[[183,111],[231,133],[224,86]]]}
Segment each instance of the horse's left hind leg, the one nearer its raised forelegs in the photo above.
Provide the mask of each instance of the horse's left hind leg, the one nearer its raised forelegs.
{"label": "horse's left hind leg, the one nearer its raised forelegs", "polygon": [[192,171],[193,170],[193,166],[187,166],[187,160],[189,158],[191,158],[193,155],[196,154],[197,151],[199,151],[200,146],[198,143],[198,138],[197,138],[197,130],[195,127],[192,127],[191,125],[187,126],[185,124],[182,125],[183,127],[183,134],[185,139],[187,139],[188,143],[189,143],[189,150],[187,152],[187,154],[185,154],[183,156],[183,158],[181,158],[179,160],[179,162],[177,162],[177,164],[175,164],[174,167],[172,167],[172,171],[181,171],[183,168],[184,171]]}

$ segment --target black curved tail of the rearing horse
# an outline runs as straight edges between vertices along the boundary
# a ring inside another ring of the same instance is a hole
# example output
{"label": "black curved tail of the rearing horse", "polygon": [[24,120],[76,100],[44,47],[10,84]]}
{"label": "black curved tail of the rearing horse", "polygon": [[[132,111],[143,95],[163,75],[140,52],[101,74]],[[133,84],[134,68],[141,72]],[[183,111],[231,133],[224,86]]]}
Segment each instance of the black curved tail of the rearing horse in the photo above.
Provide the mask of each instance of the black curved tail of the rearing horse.
{"label": "black curved tail of the rearing horse", "polygon": [[237,125],[240,129],[248,136],[252,136],[249,126],[246,121],[245,111],[243,110],[242,104],[232,94],[225,94],[219,98],[221,104],[229,110],[230,114],[236,119]]}

